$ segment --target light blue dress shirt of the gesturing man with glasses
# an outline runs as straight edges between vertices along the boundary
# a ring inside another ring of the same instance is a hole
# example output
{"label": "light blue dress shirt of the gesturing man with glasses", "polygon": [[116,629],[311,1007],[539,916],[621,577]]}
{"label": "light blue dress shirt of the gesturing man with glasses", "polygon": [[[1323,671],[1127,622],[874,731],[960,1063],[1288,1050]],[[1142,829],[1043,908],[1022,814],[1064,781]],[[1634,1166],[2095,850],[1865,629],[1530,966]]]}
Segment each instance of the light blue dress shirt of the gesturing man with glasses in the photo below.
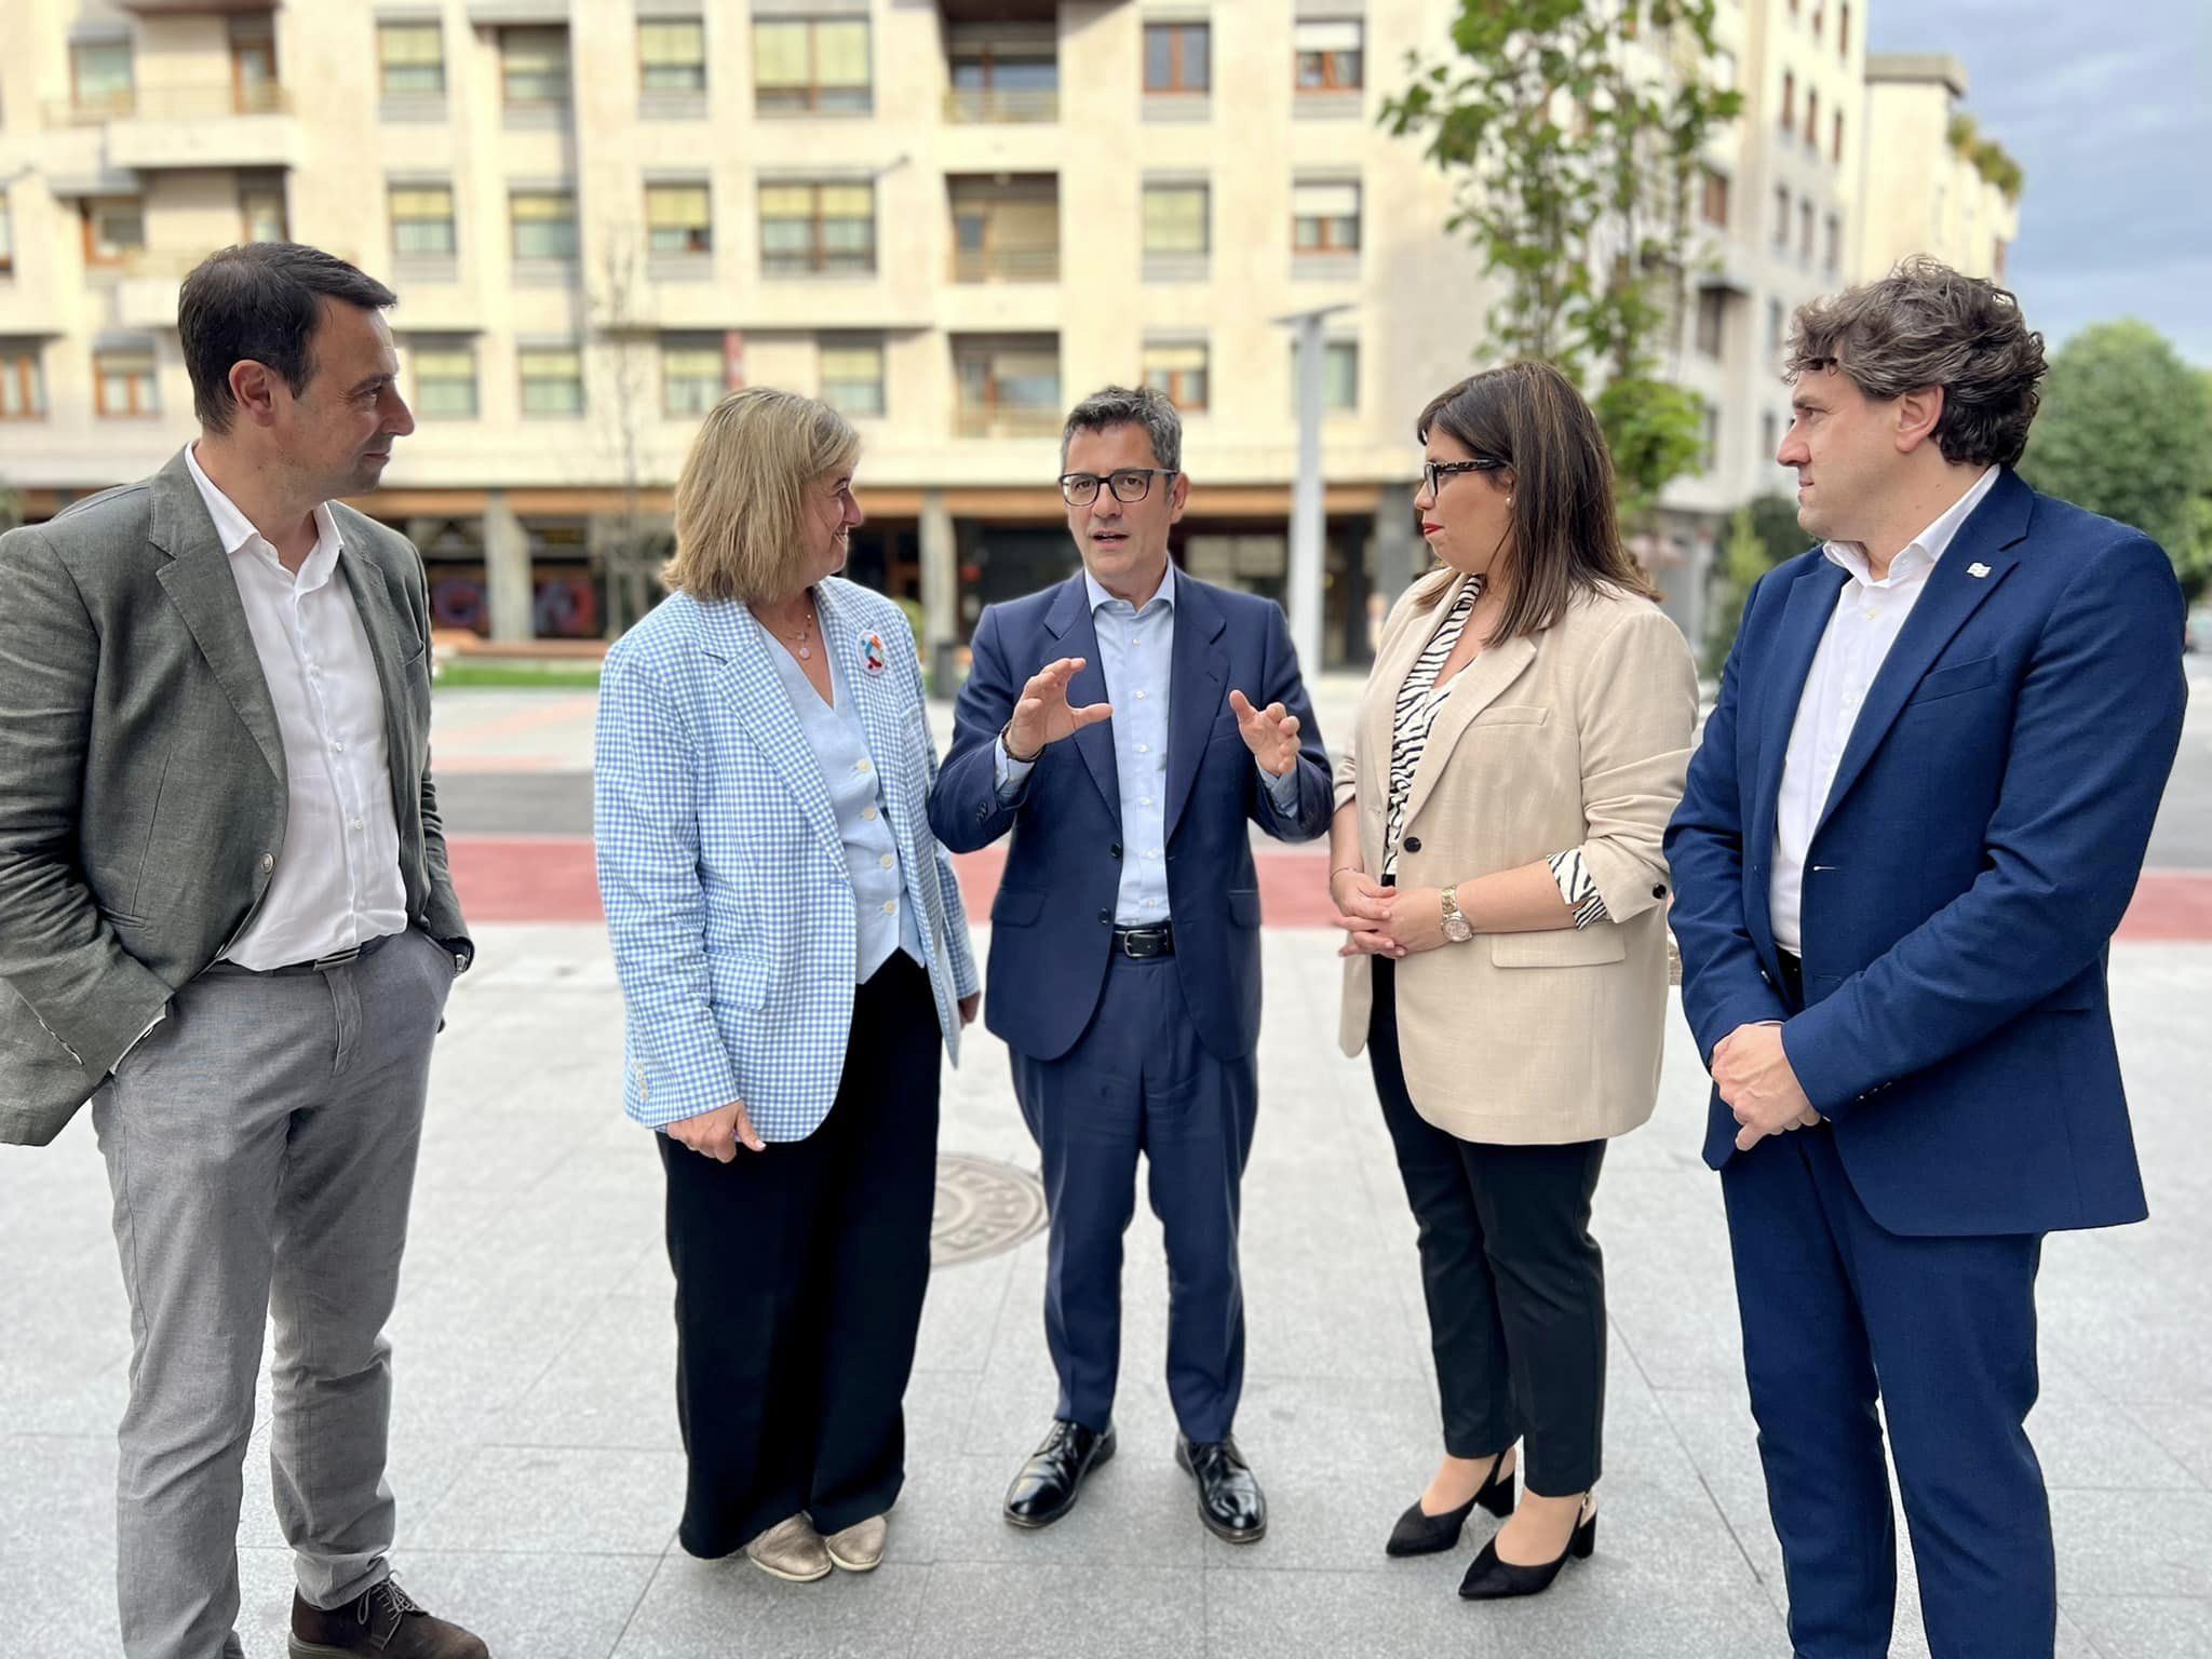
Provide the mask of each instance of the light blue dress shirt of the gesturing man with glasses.
{"label": "light blue dress shirt of the gesturing man with glasses", "polygon": [[[1168,920],[1168,695],[1175,679],[1175,562],[1159,593],[1139,611],[1117,599],[1084,571],[1091,626],[1099,639],[1099,672],[1113,703],[1113,763],[1121,785],[1121,887],[1115,927],[1152,927]],[[816,699],[821,701],[821,699]],[[1276,810],[1298,810],[1296,770],[1274,776],[1252,763]],[[1029,781],[1035,761],[1006,754],[998,743],[995,785],[1002,801]]]}

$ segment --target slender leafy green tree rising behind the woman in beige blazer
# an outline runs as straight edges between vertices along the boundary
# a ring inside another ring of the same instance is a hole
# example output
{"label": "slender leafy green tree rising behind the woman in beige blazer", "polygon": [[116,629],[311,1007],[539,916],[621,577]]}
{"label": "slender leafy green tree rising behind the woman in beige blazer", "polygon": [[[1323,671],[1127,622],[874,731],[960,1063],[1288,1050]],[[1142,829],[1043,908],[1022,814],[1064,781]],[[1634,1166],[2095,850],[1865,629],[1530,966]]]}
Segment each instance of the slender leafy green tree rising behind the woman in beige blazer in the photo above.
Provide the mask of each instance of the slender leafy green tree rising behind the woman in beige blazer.
{"label": "slender leafy green tree rising behind the woman in beige blazer", "polygon": [[1447,230],[1504,285],[1482,349],[1597,398],[1624,518],[1697,469],[1703,400],[1666,380],[1699,257],[1690,190],[1741,93],[1708,77],[1714,0],[1460,0],[1451,55],[1383,106],[1453,179]]}

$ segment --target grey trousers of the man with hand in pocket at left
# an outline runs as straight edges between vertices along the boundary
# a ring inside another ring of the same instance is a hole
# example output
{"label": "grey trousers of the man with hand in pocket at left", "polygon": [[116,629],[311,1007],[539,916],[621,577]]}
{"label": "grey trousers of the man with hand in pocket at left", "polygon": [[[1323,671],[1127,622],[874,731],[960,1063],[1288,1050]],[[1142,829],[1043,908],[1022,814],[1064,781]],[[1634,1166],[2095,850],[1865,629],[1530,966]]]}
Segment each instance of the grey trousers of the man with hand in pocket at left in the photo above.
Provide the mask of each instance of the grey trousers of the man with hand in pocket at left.
{"label": "grey trousers of the man with hand in pocket at left", "polygon": [[117,1478],[126,1659],[237,1659],[239,1500],[263,1325],[299,1590],[389,1575],[392,1347],[431,1035],[425,933],[321,973],[215,967],[93,1097],[131,1296]]}

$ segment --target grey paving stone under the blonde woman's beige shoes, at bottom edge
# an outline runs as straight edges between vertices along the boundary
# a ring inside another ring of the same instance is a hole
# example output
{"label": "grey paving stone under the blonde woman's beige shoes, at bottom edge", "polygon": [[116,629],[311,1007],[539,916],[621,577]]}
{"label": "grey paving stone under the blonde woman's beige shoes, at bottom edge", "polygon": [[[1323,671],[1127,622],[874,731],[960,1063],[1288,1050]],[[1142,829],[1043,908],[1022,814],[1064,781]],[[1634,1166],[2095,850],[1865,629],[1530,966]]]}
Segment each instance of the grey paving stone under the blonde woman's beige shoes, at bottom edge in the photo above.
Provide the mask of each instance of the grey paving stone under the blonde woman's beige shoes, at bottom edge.
{"label": "grey paving stone under the blonde woman's beige shoes, at bottom edge", "polygon": [[865,1575],[781,1584],[743,1559],[670,1555],[613,1652],[615,1659],[887,1659],[911,1652],[929,1577],[927,1566],[885,1562]]}

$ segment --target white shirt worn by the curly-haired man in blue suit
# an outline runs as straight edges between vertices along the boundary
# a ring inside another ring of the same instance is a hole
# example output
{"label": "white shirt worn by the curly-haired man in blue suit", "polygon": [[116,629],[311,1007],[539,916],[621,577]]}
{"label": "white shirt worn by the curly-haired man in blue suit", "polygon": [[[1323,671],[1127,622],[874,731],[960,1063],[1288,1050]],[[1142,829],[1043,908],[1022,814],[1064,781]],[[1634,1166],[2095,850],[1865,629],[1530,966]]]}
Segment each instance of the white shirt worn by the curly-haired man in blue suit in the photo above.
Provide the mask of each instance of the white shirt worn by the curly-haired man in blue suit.
{"label": "white shirt worn by the curly-haired man in blue suit", "polygon": [[1905,544],[1889,562],[1889,575],[1874,580],[1867,549],[1858,542],[1829,542],[1823,553],[1849,573],[1836,611],[1820,635],[1805,692],[1798,697],[1796,723],[1790,728],[1790,750],[1783,759],[1783,785],[1774,812],[1774,874],[1767,887],[1767,909],[1774,916],[1774,942],[1792,956],[1805,953],[1803,900],[1805,858],[1812,834],[1827,812],[1827,792],[1851,741],[1858,710],[1867,701],[1874,677],[1882,672],[1889,648],[1898,641],[1905,619],[1920,604],[1936,560],[1951,546],[1958,526],[1966,522],[1982,498],[1997,487],[1997,469],[1986,469],[1942,518]]}

